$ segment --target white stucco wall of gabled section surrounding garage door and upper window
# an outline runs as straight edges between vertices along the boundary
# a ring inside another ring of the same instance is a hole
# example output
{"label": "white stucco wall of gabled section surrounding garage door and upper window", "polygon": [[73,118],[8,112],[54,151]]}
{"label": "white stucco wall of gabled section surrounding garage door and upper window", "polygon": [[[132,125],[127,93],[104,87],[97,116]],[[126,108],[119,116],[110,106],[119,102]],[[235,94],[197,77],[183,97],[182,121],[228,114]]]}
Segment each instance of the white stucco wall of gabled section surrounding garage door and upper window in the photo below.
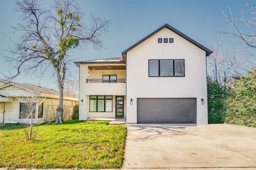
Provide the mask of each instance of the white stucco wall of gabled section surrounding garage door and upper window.
{"label": "white stucco wall of gabled section surrounding garage door and upper window", "polygon": [[[158,43],[173,38],[174,43]],[[185,77],[149,77],[148,60],[184,59]],[[167,28],[127,52],[126,121],[137,123],[137,98],[197,98],[197,124],[207,124],[206,54]],[[201,99],[205,104],[201,105]]]}

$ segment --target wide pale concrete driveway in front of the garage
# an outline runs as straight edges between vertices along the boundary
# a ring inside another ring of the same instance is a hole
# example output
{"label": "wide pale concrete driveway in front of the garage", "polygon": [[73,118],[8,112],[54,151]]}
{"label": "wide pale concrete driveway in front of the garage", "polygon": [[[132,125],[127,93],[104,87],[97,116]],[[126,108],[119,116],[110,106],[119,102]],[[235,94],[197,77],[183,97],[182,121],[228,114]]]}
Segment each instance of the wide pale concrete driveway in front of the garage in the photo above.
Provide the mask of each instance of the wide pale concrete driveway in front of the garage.
{"label": "wide pale concrete driveway in front of the garage", "polygon": [[127,125],[126,168],[256,170],[256,128]]}

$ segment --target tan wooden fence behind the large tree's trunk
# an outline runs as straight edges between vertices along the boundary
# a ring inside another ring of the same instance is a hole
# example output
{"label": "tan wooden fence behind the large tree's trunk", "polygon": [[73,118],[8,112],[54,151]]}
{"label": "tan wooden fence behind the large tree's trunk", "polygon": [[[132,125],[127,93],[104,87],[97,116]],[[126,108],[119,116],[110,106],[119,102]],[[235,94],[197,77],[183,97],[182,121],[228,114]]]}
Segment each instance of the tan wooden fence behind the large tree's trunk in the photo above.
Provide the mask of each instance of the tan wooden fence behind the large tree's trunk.
{"label": "tan wooden fence behind the large tree's trunk", "polygon": [[[46,116],[45,121],[55,121],[57,117],[56,109],[58,108],[58,105],[48,105],[46,108]],[[74,106],[63,106],[63,121],[71,120],[72,115],[74,114]]]}

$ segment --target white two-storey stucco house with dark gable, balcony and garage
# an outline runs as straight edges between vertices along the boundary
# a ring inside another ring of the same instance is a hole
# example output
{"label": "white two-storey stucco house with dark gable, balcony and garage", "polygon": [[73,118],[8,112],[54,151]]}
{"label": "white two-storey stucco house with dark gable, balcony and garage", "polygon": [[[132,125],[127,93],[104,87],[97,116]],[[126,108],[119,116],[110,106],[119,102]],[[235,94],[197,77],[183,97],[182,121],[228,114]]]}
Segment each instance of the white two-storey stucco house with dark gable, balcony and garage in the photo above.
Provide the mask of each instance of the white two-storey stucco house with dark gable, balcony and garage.
{"label": "white two-storey stucco house with dark gable, balcony and garage", "polygon": [[122,57],[75,62],[79,119],[207,124],[206,56],[211,53],[165,24]]}

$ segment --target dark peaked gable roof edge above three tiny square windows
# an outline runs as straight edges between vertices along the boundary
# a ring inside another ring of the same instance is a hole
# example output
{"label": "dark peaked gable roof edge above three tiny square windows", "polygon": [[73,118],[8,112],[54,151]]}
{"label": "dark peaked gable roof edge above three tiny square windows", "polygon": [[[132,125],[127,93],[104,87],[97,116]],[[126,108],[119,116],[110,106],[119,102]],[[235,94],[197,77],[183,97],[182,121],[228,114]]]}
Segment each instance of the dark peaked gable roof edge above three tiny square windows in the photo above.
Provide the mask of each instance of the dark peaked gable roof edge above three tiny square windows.
{"label": "dark peaked gable roof edge above three tiny square windows", "polygon": [[131,49],[133,49],[134,47],[136,47],[137,45],[139,45],[140,43],[142,43],[143,41],[145,41],[146,39],[150,38],[152,35],[156,34],[157,32],[159,32],[160,30],[162,30],[164,28],[170,29],[174,33],[180,35],[180,37],[186,39],[190,43],[192,43],[192,44],[196,45],[197,47],[199,47],[200,49],[204,50],[206,52],[206,56],[209,56],[212,53],[212,51],[210,51],[209,49],[207,49],[203,45],[199,44],[198,42],[194,41],[190,37],[186,36],[185,34],[181,33],[180,31],[178,31],[177,29],[175,29],[174,27],[171,27],[170,25],[168,25],[166,23],[162,27],[158,28],[156,31],[152,32],[150,35],[148,35],[145,38],[143,38],[142,40],[138,41],[138,43],[136,43],[136,44],[132,45],[131,47],[129,47],[128,49],[126,49],[124,52],[122,52],[122,56],[125,57],[125,55],[126,55],[126,53],[128,51],[130,51]]}

